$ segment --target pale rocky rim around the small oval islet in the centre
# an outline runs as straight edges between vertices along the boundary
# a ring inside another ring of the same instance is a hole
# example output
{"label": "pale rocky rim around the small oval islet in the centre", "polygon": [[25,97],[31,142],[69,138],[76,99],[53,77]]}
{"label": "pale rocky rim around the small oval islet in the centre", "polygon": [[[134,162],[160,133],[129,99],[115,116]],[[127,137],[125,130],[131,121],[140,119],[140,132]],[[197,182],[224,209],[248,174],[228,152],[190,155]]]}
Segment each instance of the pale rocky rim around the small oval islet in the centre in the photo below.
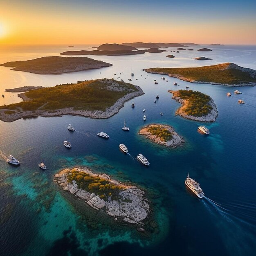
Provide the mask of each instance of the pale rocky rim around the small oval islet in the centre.
{"label": "pale rocky rim around the small oval islet in the centre", "polygon": [[[167,129],[172,134],[172,139],[169,141],[162,141],[157,135],[153,135],[151,132],[148,131],[148,128],[152,126],[159,126],[159,128]],[[177,146],[181,146],[185,141],[184,139],[175,132],[172,126],[165,125],[165,124],[148,124],[142,127],[139,130],[140,135],[144,135],[146,138],[150,139],[151,141],[159,144],[164,145],[166,147],[173,147],[176,148]]]}

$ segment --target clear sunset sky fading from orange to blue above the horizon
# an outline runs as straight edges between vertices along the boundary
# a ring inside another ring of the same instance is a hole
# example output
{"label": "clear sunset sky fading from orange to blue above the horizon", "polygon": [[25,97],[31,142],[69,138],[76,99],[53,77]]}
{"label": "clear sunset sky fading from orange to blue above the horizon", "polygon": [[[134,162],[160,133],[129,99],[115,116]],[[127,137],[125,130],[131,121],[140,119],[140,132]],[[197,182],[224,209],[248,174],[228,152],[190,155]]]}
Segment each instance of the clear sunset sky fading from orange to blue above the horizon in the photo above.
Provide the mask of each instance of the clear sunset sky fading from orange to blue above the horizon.
{"label": "clear sunset sky fading from orange to blue above the horizon", "polygon": [[256,1],[0,0],[0,44],[256,45]]}

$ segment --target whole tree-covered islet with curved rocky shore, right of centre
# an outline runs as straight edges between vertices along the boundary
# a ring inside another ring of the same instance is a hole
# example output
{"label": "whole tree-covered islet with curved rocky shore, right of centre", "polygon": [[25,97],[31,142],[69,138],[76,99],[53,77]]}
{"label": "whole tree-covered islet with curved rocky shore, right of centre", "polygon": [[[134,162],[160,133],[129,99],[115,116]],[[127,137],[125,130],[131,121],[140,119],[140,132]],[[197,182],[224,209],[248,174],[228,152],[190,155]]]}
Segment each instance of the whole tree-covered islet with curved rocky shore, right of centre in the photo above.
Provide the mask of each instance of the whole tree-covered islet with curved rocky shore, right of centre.
{"label": "whole tree-covered islet with curved rocky shore, right of centre", "polygon": [[192,90],[169,90],[168,92],[173,94],[172,99],[182,104],[182,107],[177,109],[176,115],[202,122],[213,122],[216,120],[218,111],[216,104],[210,96]]}

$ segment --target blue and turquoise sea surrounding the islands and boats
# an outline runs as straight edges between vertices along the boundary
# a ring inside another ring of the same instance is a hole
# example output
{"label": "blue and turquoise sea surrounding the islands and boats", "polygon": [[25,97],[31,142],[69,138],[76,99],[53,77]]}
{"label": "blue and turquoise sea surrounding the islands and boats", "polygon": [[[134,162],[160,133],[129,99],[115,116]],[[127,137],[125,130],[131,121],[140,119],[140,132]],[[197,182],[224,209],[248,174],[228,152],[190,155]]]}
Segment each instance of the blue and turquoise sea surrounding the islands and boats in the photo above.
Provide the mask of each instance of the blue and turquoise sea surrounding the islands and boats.
{"label": "blue and turquoise sea surrounding the islands and boats", "polygon": [[[199,47],[206,46],[189,48]],[[212,52],[172,53],[173,59],[166,58],[170,52],[89,56],[113,66],[60,75],[29,74],[0,67],[0,94],[5,95],[0,105],[21,101],[16,93],[4,92],[7,88],[50,87],[103,77],[128,82],[131,68],[135,74],[131,83],[139,85],[145,93],[126,102],[109,119],[67,115],[12,123],[0,121],[0,255],[255,256],[256,87],[196,84],[165,76],[167,82],[161,75],[141,71],[148,67],[225,62],[256,70],[256,46],[227,45],[211,49]],[[57,56],[65,50],[67,47],[1,49],[0,63]],[[200,56],[213,60],[193,60]],[[153,83],[154,79],[158,85]],[[179,86],[173,85],[174,82]],[[175,116],[180,104],[171,99],[168,90],[185,86],[208,94],[217,105],[216,121],[205,124],[209,136],[198,132],[198,126],[203,123]],[[236,89],[242,94],[235,95]],[[227,92],[232,96],[227,97]],[[159,99],[154,103],[156,94]],[[239,104],[238,99],[243,99],[245,104]],[[131,108],[132,102],[135,108]],[[121,130],[124,119],[129,132]],[[184,146],[167,149],[138,135],[139,129],[150,123],[173,126],[184,137]],[[76,131],[68,131],[68,124]],[[110,138],[98,137],[100,131],[108,133]],[[72,143],[70,150],[64,147],[64,140]],[[129,155],[121,153],[121,143],[128,147]],[[138,153],[148,158],[148,168],[137,162]],[[8,154],[20,160],[20,166],[7,164],[4,157]],[[38,167],[40,162],[46,164],[46,171]],[[145,238],[102,212],[73,204],[72,197],[54,184],[53,175],[62,168],[78,165],[144,188],[151,200],[157,234]],[[184,181],[188,173],[198,180],[205,198],[197,198],[186,188]]]}

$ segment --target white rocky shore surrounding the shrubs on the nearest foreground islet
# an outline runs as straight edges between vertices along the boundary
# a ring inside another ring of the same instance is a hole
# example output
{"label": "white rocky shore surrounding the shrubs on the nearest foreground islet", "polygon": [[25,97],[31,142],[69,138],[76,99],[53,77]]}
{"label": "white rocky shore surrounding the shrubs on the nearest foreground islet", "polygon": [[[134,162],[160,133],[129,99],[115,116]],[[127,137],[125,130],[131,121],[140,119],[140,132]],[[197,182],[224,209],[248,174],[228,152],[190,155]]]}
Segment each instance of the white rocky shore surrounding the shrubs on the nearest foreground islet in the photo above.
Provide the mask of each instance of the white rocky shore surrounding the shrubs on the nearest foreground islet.
{"label": "white rocky shore surrounding the shrubs on the nearest foreground islet", "polygon": [[95,193],[79,189],[76,181],[72,180],[69,183],[67,176],[71,173],[72,169],[64,169],[55,174],[54,182],[61,186],[63,190],[73,194],[76,199],[84,200],[90,207],[105,211],[106,214],[115,220],[138,225],[140,229],[138,231],[144,231],[141,226],[144,225],[143,221],[146,220],[150,213],[150,205],[148,204],[147,198],[145,198],[144,191],[138,189],[136,186],[126,185],[117,180],[113,180],[106,174],[95,174],[85,167],[76,167],[73,169],[87,173],[91,177],[108,180],[110,184],[122,187],[119,192],[120,199],[112,200],[111,197],[108,197],[107,200],[103,200]]}

